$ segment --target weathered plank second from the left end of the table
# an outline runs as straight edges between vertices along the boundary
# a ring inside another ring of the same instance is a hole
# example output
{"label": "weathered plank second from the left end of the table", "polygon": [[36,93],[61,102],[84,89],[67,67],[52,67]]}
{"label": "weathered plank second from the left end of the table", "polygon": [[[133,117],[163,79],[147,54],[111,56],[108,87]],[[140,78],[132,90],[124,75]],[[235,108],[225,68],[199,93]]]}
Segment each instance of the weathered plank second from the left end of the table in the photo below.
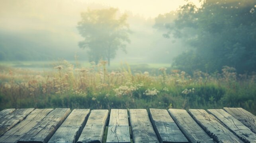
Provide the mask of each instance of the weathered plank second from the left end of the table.
{"label": "weathered plank second from the left end of the table", "polygon": [[9,114],[0,120],[0,135],[3,135],[6,131],[22,121],[26,116],[32,112],[34,108],[17,109],[12,114]]}

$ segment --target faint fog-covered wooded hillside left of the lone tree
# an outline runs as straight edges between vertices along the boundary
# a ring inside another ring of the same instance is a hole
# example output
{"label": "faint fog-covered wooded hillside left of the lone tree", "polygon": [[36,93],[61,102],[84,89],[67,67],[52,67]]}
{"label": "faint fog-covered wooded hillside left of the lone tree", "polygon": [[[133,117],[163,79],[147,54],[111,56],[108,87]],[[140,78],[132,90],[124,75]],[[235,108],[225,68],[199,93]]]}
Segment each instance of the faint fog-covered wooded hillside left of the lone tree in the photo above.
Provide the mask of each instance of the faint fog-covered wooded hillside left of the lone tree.
{"label": "faint fog-covered wooded hillside left of the lone tree", "polygon": [[87,57],[83,56],[85,52],[73,48],[76,43],[61,43],[49,37],[51,33],[42,35],[0,31],[0,61],[52,61],[62,58],[74,60],[75,55],[79,56],[80,60],[87,60]]}

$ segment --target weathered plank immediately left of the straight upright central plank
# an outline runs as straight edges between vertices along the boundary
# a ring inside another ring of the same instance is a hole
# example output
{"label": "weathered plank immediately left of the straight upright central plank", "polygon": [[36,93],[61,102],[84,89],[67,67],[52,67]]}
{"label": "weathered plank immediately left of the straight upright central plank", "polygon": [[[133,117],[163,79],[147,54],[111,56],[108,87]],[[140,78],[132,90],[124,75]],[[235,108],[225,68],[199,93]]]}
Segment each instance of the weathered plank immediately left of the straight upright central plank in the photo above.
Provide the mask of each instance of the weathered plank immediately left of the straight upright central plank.
{"label": "weathered plank immediately left of the straight upright central plank", "polygon": [[102,143],[108,110],[92,110],[77,143]]}

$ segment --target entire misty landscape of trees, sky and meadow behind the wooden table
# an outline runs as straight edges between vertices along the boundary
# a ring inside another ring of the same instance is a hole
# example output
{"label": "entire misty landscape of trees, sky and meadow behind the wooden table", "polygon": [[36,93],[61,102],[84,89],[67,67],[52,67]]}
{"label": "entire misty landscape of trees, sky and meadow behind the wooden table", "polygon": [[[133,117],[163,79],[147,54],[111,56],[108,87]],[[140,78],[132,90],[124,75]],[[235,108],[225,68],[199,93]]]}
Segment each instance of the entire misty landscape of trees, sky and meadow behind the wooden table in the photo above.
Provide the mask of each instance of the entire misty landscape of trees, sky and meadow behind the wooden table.
{"label": "entire misty landscape of trees, sky and meadow behind the wooden table", "polygon": [[256,114],[255,0],[1,0],[0,109]]}

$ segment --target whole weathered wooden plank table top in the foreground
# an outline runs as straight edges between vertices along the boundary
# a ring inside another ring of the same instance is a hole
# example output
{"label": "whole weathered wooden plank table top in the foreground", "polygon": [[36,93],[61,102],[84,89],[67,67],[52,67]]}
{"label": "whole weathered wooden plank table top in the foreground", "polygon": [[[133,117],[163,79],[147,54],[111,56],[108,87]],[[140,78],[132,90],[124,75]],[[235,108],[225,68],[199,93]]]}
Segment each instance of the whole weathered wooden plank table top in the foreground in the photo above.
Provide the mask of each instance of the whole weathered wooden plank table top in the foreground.
{"label": "whole weathered wooden plank table top in the foreground", "polygon": [[0,143],[256,143],[255,133],[242,108],[0,111]]}

